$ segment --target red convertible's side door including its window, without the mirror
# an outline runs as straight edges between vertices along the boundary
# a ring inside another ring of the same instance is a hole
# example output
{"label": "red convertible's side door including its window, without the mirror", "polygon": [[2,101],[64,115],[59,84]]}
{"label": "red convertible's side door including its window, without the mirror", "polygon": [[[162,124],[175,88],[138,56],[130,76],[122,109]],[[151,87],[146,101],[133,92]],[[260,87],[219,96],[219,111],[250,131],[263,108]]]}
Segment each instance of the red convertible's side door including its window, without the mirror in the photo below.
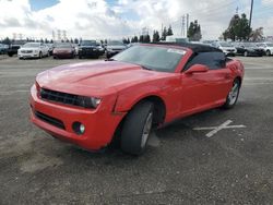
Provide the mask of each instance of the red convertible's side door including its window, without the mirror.
{"label": "red convertible's side door including its window, without the mirror", "polygon": [[[192,113],[213,107],[226,98],[230,88],[230,70],[223,52],[200,52],[186,64],[181,74],[181,113]],[[186,74],[194,64],[203,64],[207,72]]]}

